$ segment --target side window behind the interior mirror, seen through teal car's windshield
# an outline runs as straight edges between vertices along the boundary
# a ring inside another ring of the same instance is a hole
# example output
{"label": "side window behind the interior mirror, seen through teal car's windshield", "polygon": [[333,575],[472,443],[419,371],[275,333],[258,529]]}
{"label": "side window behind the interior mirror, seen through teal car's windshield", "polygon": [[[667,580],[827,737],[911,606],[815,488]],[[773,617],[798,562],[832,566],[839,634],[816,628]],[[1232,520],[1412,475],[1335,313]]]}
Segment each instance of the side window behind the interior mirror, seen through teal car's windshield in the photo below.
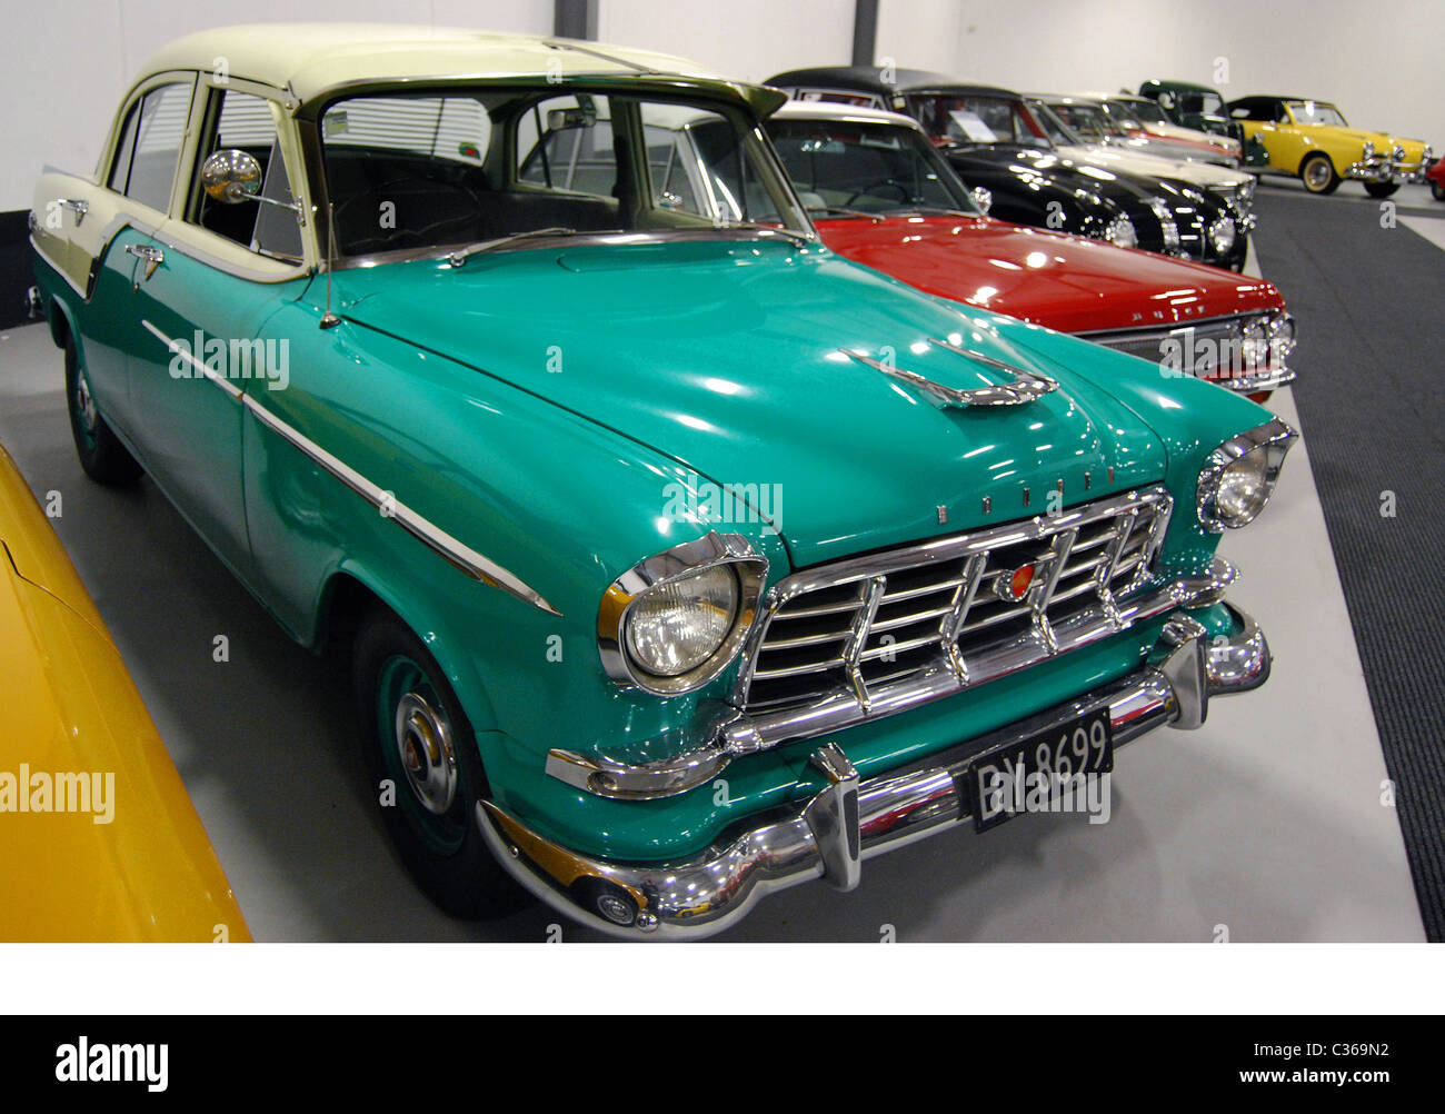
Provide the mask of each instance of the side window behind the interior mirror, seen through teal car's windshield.
{"label": "side window behind the interior mirror, seen through teal car's windshield", "polygon": [[613,198],[617,152],[605,97],[549,97],[517,117],[517,181]]}

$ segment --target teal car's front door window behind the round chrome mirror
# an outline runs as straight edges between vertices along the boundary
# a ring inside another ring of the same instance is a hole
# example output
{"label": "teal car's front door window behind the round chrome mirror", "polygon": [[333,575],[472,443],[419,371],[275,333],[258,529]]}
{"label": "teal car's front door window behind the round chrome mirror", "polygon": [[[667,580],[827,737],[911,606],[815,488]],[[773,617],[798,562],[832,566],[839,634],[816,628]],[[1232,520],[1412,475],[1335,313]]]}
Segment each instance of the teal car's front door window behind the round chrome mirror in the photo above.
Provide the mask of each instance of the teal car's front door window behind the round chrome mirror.
{"label": "teal car's front door window behind the round chrome mirror", "polygon": [[221,98],[221,108],[214,117],[215,130],[211,133],[210,142],[201,144],[197,175],[199,175],[199,163],[204,163],[207,156],[218,150],[243,150],[262,168],[260,195],[279,204],[267,205],[264,201],[225,204],[201,191],[198,182],[195,189],[199,197],[199,208],[195,210],[194,220],[202,228],[234,240],[253,251],[280,259],[301,259],[301,227],[296,223],[296,214],[280,208],[290,205],[293,198],[286,160],[282,157],[276,140],[276,123],[272,117],[270,101],[233,90],[215,95]]}

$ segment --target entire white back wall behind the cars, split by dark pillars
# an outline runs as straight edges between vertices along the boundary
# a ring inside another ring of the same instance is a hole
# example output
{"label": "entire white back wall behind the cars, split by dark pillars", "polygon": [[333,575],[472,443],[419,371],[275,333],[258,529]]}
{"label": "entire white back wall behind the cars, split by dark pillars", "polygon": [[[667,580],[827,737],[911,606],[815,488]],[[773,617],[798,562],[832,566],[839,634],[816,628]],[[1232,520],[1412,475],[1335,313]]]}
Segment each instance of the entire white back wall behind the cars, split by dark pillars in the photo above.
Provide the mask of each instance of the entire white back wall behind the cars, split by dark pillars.
{"label": "entire white back wall behind the cars, split by dark pillars", "polygon": [[[760,81],[847,62],[853,0],[600,0],[598,36]],[[223,23],[389,20],[549,33],[552,0],[0,0],[0,210],[45,163],[90,169],[121,91],[160,43]],[[1010,88],[1137,87],[1334,100],[1351,123],[1445,149],[1441,0],[881,0],[879,58]],[[1215,59],[1228,79],[1215,79]]]}

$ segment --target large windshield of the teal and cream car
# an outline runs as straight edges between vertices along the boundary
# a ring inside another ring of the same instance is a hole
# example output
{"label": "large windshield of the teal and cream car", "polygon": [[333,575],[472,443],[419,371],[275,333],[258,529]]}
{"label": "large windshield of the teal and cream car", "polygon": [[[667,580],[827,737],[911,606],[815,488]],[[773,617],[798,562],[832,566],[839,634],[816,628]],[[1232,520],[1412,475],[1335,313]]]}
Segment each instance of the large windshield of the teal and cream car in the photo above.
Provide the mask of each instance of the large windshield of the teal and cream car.
{"label": "large windshield of the teal and cream car", "polygon": [[540,233],[811,233],[751,117],[579,88],[448,88],[321,117],[338,256],[496,247]]}

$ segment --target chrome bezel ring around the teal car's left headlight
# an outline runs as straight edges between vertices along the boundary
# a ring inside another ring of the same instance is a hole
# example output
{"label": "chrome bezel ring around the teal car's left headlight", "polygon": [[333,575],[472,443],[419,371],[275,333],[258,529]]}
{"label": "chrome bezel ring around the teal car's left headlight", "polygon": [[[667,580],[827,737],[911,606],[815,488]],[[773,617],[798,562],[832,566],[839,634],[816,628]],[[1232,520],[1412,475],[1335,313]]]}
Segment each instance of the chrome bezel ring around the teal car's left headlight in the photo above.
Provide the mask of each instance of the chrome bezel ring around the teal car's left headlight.
{"label": "chrome bezel ring around the teal car's left headlight", "polygon": [[[686,672],[665,676],[650,672],[634,656],[629,623],[636,605],[649,594],[714,571],[734,578],[733,620],[717,647]],[[597,608],[597,650],[603,669],[620,686],[639,688],[657,696],[681,696],[714,681],[743,650],[747,633],[757,618],[757,604],[767,581],[767,558],[741,535],[715,530],[695,542],[665,549],[634,565],[603,592]]]}

